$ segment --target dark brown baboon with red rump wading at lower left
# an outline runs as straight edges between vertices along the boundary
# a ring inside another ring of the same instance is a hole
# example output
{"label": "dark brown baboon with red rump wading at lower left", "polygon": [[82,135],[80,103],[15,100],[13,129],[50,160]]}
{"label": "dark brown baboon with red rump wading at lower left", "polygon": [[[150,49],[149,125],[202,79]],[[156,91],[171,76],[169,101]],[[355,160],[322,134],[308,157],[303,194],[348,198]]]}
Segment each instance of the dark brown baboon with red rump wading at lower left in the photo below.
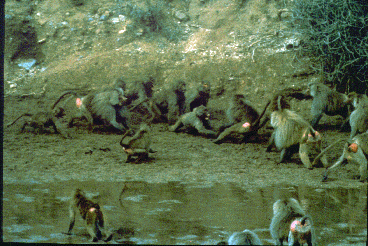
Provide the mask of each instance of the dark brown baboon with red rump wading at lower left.
{"label": "dark brown baboon with red rump wading at lower left", "polygon": [[70,223],[67,234],[71,234],[71,231],[75,223],[76,210],[79,210],[82,219],[86,224],[87,231],[92,237],[93,242],[97,242],[102,239],[103,236],[107,238],[105,241],[111,240],[112,234],[108,235],[104,228],[104,216],[100,209],[100,205],[92,202],[86,198],[86,195],[81,189],[76,189],[72,193],[72,200],[69,206]]}

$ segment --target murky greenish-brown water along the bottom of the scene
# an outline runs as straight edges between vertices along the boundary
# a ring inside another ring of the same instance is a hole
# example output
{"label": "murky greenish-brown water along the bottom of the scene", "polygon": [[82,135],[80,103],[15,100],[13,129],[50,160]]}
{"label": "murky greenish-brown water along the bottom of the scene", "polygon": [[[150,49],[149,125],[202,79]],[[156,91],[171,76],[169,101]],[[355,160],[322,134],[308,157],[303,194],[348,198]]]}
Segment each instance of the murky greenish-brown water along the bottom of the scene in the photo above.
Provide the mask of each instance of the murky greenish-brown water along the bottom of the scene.
{"label": "murky greenish-brown water along the bottom of the scene", "polygon": [[244,190],[237,185],[211,186],[179,182],[150,184],[76,182],[4,184],[3,240],[32,243],[88,243],[77,217],[72,235],[68,202],[74,187],[84,189],[102,205],[107,226],[116,230],[110,243],[216,244],[231,233],[254,230],[264,244],[272,244],[268,227],[272,204],[279,198],[298,199],[314,218],[319,245],[365,245],[367,187],[316,189],[270,187]]}

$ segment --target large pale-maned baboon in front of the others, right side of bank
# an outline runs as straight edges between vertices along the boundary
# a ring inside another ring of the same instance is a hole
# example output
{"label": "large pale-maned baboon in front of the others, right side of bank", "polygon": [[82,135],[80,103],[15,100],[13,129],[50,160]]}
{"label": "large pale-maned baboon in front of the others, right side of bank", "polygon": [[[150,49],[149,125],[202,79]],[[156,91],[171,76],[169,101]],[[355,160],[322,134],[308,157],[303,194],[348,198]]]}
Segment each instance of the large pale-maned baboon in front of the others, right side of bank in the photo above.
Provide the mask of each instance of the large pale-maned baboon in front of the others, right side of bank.
{"label": "large pale-maned baboon in front of the others, right side of bank", "polygon": [[[281,150],[279,162],[282,163],[299,149],[299,156],[304,166],[312,169],[309,155],[315,154],[313,152],[321,147],[319,133],[302,116],[287,109],[287,101],[284,101],[282,96],[278,97],[277,106],[275,104],[276,102],[273,101],[271,105],[274,110],[271,113],[271,126],[274,131],[266,151],[271,151],[272,146],[275,145],[279,151]],[[325,158],[322,161],[327,165]]]}

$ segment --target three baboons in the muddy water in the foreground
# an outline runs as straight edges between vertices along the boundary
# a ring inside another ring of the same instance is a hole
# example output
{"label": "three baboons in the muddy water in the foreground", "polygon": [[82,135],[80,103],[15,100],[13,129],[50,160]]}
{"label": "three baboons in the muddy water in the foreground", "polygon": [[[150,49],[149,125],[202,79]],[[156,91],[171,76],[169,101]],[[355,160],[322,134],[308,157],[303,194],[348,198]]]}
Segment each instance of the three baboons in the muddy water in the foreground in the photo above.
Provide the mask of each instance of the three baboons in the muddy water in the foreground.
{"label": "three baboons in the muddy water in the foreground", "polygon": [[[122,189],[120,196],[127,189]],[[119,197],[121,201],[121,197]],[[84,220],[86,229],[93,242],[104,240],[110,241],[115,230],[105,227],[104,215],[100,206],[88,199],[81,189],[76,189],[72,193],[69,206],[70,223],[66,234],[70,235],[75,223],[76,210]],[[299,202],[294,198],[280,199],[273,204],[273,217],[270,225],[270,234],[276,245],[283,245],[287,241],[288,245],[316,245],[316,236],[312,218],[304,211]],[[218,245],[263,245],[258,235],[250,230],[233,233],[227,242],[220,242]]]}

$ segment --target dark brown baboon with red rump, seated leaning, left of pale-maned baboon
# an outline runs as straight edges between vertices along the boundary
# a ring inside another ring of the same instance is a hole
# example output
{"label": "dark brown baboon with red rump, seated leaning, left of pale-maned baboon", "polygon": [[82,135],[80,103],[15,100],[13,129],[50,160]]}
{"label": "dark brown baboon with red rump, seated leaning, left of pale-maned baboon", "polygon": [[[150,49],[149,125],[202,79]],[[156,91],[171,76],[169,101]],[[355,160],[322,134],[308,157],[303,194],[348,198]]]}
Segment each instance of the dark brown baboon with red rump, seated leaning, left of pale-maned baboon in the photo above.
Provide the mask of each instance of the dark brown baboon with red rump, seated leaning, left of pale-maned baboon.
{"label": "dark brown baboon with red rump, seated leaning, left of pale-maned baboon", "polygon": [[262,114],[259,115],[258,112],[243,99],[243,95],[234,95],[227,110],[229,122],[225,125],[225,127],[230,127],[223,130],[217,139],[213,141],[214,143],[221,143],[229,135],[234,133],[243,135],[243,141],[245,141],[249,136],[256,134],[266,123],[266,121],[261,123],[261,119],[270,102],[266,104]]}

